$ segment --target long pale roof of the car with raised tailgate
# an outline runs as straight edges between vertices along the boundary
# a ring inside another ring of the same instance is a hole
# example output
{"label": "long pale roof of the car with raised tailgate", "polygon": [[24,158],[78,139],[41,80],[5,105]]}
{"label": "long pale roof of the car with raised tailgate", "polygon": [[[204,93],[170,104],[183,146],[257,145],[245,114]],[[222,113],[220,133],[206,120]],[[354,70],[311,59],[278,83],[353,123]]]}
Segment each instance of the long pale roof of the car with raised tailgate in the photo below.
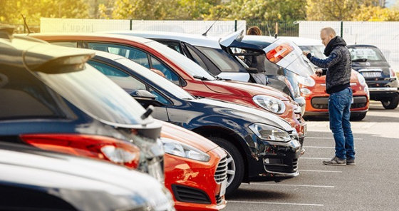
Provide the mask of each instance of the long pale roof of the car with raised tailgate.
{"label": "long pale roof of the car with raised tailgate", "polygon": [[130,36],[140,36],[155,39],[170,39],[190,43],[192,46],[204,46],[209,48],[220,48],[219,38],[212,36],[202,36],[198,34],[184,34],[165,31],[107,31],[107,34],[120,34]]}

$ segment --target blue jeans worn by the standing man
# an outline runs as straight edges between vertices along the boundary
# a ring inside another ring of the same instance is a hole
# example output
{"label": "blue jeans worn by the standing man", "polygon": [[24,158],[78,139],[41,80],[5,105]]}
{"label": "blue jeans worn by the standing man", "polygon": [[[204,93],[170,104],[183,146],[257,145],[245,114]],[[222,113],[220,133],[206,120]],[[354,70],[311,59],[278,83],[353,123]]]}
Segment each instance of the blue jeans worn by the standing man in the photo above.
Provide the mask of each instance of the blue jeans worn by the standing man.
{"label": "blue jeans worn by the standing man", "polygon": [[355,147],[351,130],[352,89],[332,93],[328,98],[328,113],[330,129],[336,141],[336,157],[340,159],[355,159]]}

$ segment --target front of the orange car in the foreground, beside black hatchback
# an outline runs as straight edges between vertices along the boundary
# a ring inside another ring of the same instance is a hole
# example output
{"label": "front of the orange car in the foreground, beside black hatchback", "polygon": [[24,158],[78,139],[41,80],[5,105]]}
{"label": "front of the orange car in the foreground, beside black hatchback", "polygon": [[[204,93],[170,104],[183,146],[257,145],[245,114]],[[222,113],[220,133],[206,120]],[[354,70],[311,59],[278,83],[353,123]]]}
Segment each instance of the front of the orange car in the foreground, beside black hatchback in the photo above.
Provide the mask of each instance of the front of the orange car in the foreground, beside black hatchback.
{"label": "front of the orange car in the foreground, beside black hatchback", "polygon": [[197,133],[162,122],[165,187],[176,210],[221,210],[226,206],[227,154]]}

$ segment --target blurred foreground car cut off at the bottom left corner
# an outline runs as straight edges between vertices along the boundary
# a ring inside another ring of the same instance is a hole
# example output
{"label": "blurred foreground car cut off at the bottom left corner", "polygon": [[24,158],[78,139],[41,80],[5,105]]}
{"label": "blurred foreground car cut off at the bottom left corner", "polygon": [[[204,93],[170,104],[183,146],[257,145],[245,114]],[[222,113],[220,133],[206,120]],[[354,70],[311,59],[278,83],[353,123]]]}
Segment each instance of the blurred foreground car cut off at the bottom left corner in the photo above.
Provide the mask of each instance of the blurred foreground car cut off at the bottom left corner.
{"label": "blurred foreground car cut off at the bottom left corner", "polygon": [[1,139],[0,210],[175,210],[149,175]]}

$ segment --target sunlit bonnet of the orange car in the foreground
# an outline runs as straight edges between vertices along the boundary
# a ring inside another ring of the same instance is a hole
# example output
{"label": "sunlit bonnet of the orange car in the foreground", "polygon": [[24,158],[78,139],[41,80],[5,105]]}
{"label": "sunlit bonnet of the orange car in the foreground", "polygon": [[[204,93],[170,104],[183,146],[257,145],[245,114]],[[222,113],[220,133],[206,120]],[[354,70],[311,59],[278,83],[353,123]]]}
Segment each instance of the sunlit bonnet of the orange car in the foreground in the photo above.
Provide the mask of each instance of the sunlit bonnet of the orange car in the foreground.
{"label": "sunlit bonnet of the orange car in the foreground", "polygon": [[177,140],[181,143],[197,148],[204,153],[219,147],[217,144],[202,137],[202,135],[192,132],[191,130],[187,130],[171,123],[162,122],[160,120],[157,121],[162,123],[161,138]]}

